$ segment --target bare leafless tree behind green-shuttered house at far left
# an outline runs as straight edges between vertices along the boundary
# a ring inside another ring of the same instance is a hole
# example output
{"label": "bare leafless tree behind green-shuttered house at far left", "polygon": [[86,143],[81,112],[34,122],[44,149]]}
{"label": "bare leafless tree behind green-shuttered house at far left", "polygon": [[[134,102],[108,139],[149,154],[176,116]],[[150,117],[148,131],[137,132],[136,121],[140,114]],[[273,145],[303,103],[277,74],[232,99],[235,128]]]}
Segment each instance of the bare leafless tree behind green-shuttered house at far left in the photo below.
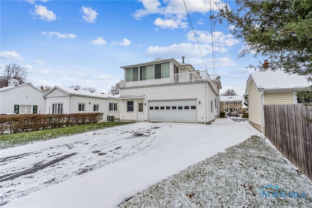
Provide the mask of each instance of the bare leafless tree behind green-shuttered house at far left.
{"label": "bare leafless tree behind green-shuttered house at far left", "polygon": [[27,68],[21,67],[16,63],[5,65],[2,73],[3,75],[0,76],[0,87],[7,86],[9,80],[12,79],[20,81],[20,84],[26,83],[28,76]]}

